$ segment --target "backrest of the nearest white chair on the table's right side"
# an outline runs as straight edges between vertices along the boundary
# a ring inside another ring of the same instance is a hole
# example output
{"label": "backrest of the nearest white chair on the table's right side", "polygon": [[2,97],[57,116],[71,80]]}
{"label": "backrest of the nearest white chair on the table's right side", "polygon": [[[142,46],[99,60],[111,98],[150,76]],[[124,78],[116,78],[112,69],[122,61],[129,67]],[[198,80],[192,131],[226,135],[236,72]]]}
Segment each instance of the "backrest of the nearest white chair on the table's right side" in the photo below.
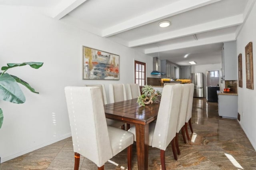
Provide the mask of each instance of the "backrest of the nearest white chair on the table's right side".
{"label": "backrest of the nearest white chair on the table's right side", "polygon": [[176,136],[181,93],[181,85],[164,86],[152,138],[152,147],[166,150],[168,144]]}

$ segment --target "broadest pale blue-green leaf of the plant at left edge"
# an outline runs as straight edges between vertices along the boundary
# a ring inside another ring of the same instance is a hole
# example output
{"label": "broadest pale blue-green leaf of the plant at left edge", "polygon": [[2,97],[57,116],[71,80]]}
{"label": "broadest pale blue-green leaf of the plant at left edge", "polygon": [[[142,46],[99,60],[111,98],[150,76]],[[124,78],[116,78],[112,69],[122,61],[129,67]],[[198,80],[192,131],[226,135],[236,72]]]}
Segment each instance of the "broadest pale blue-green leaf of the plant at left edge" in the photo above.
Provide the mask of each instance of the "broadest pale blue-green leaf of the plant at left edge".
{"label": "broadest pale blue-green leaf of the plant at left edge", "polygon": [[0,76],[0,100],[24,103],[26,98],[16,80],[8,73]]}

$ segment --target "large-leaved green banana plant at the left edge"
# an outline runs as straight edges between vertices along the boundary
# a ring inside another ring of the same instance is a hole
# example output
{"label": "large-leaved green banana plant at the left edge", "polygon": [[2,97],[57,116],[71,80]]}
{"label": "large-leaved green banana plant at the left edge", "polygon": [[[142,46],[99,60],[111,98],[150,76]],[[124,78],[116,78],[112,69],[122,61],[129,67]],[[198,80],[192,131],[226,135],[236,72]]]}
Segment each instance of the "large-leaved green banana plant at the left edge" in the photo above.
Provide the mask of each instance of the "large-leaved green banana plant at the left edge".
{"label": "large-leaved green banana plant at the left edge", "polygon": [[[15,75],[10,75],[8,73],[5,73],[8,69],[13,67],[19,67],[24,65],[30,65],[30,67],[34,69],[38,69],[42,67],[43,63],[41,62],[25,62],[25,63],[8,63],[7,66],[4,66],[1,68],[3,71],[0,73],[0,100],[9,101],[12,103],[24,103],[26,101],[26,98],[24,96],[24,93],[20,89],[20,86],[18,83],[24,85],[27,87],[31,92],[37,93],[35,89],[33,89],[26,81],[20,79],[19,77],[16,77]],[[2,127],[4,120],[3,111],[0,108],[0,128]]]}

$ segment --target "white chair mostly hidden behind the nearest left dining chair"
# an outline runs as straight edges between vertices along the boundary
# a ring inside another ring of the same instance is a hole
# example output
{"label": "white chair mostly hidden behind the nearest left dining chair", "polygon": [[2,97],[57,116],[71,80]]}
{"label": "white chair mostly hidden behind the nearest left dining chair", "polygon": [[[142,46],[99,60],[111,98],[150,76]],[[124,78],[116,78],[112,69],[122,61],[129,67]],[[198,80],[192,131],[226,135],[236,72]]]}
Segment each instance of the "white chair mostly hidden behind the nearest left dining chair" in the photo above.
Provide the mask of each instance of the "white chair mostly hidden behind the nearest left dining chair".
{"label": "white chair mostly hidden behind the nearest left dining chair", "polygon": [[[108,104],[105,85],[103,85],[103,84],[94,84],[94,85],[85,85],[85,86],[87,86],[87,87],[99,87],[100,91],[101,91],[101,94],[102,94],[102,99],[104,101],[104,105]],[[115,120],[112,120],[112,119],[106,119],[106,120],[107,120],[107,125],[108,126],[112,126],[112,127],[116,127],[116,128],[121,127],[122,129],[124,129],[124,123],[123,122],[115,121]]]}

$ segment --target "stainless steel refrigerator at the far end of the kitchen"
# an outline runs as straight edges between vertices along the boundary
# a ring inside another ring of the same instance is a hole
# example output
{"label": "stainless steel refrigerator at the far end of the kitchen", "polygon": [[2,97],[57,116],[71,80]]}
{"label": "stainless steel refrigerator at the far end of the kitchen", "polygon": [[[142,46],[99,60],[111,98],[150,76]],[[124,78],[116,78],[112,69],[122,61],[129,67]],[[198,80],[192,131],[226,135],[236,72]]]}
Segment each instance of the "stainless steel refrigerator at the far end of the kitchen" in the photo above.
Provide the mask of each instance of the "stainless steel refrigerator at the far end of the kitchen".
{"label": "stainless steel refrigerator at the far end of the kitchen", "polygon": [[204,73],[191,73],[190,82],[194,83],[194,97],[204,97]]}

